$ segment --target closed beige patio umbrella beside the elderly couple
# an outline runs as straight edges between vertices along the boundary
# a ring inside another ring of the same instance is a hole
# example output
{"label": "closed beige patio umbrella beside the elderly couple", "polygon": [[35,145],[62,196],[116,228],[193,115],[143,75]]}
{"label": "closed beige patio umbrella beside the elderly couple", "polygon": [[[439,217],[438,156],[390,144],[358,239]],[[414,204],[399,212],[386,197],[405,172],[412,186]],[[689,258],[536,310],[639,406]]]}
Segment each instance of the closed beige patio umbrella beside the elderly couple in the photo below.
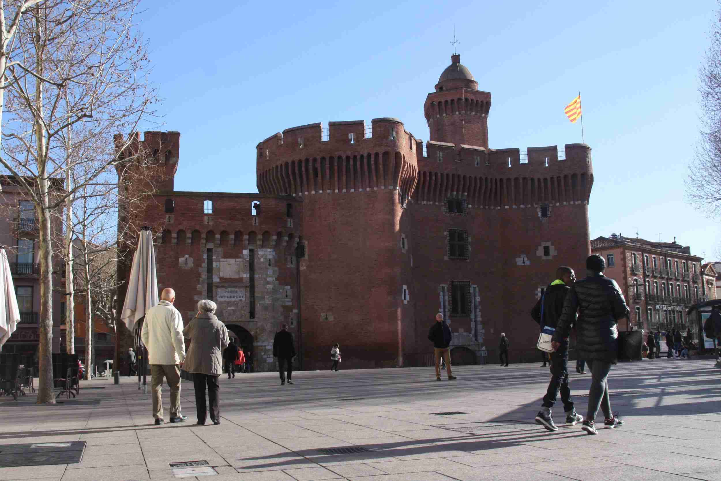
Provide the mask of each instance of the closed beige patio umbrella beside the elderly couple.
{"label": "closed beige patio umbrella beside the elderly couple", "polygon": [[138,250],[133,255],[133,266],[128,278],[128,292],[125,294],[123,314],[120,320],[125,322],[128,330],[133,332],[136,339],[136,348],[141,355],[142,362],[138,369],[138,389],[140,389],[141,370],[143,386],[146,386],[146,363],[148,355],[141,344],[140,332],[143,328],[143,318],[146,312],[158,304],[158,278],[155,272],[155,252],[153,249],[153,233],[150,227],[143,227],[138,238]]}

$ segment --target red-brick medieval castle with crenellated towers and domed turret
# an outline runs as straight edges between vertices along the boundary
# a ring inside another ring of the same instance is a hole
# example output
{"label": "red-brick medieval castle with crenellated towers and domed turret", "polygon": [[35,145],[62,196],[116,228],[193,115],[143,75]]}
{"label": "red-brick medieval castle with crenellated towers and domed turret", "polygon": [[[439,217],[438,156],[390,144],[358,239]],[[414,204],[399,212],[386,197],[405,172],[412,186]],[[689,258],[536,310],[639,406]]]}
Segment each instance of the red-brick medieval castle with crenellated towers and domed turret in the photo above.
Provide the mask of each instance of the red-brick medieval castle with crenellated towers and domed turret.
{"label": "red-brick medieval castle with crenellated towers and domed turret", "polygon": [[590,147],[491,149],[490,105],[451,56],[424,102],[430,141],[397,118],[286,128],[257,144],[257,194],[176,191],[180,133],[134,134],[167,181],[130,215],[159,226],[159,282],[186,322],[216,301],[255,369],[275,369],[283,322],[302,369],[335,343],[348,367],[427,363],[438,312],[454,363],[495,362],[500,332],[512,360],[535,360],[528,312],[590,253]]}

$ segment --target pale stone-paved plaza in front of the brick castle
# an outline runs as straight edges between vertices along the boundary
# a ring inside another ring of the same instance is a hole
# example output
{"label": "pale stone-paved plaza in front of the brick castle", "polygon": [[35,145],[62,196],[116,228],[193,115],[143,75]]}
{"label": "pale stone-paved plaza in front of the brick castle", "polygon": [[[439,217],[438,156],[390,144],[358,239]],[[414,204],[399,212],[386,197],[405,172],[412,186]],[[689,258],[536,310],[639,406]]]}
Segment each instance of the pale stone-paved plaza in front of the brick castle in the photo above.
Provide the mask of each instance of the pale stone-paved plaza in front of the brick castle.
{"label": "pale stone-paved plaza in front of the brick castle", "polygon": [[[598,436],[562,424],[560,402],[559,431],[533,423],[549,380],[539,365],[457,366],[441,382],[433,368],[297,372],[286,386],[275,373],[221,376],[221,425],[195,425],[187,381],[188,420],[161,426],[129,377],[83,382],[57,406],[2,397],[0,444],[87,445],[77,464],[2,467],[0,480],[171,479],[170,463],[188,461],[207,461],[218,474],[198,479],[216,481],[721,480],[713,360],[614,366],[611,405],[626,425]],[[571,378],[585,414],[590,374]],[[361,452],[327,451],[339,448]]]}

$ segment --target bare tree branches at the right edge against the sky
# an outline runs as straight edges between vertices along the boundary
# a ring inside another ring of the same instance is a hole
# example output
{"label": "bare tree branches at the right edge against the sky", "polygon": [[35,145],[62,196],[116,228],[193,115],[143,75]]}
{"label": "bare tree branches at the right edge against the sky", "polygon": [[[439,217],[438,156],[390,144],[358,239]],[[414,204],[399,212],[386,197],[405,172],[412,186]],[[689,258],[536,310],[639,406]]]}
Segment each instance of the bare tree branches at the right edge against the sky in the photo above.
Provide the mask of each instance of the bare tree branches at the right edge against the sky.
{"label": "bare tree branches at the right edge against the sky", "polygon": [[699,67],[701,141],[685,183],[689,202],[717,219],[721,216],[721,9],[715,12],[709,40]]}

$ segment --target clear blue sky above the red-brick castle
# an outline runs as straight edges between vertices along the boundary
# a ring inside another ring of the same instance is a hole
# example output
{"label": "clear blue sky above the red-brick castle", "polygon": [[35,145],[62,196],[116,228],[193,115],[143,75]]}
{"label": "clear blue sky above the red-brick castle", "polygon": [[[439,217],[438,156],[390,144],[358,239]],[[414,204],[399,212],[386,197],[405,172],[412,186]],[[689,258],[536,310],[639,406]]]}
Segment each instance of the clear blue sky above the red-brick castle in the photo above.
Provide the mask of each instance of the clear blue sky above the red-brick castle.
{"label": "clear blue sky above the red-brick castle", "polygon": [[718,252],[717,222],[684,201],[713,0],[207,5],[144,4],[163,130],[182,133],[176,190],[257,192],[256,144],[295,125],[397,117],[428,140],[423,101],[455,25],[461,63],[492,93],[491,148],[580,142],[563,107],[581,92],[592,238],[638,230]]}

